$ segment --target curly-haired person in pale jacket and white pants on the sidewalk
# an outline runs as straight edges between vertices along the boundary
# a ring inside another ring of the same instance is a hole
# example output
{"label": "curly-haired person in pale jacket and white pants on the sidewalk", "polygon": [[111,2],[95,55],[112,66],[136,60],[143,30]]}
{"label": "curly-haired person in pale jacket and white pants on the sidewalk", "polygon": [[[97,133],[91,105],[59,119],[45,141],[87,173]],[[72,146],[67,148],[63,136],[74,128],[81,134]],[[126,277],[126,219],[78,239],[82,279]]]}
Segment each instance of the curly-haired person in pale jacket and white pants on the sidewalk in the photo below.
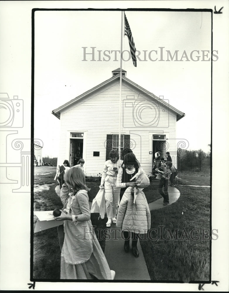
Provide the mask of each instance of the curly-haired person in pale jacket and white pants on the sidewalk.
{"label": "curly-haired person in pale jacket and white pants on the sidewalk", "polygon": [[111,226],[111,221],[116,224],[116,214],[118,209],[118,200],[120,189],[116,188],[116,180],[118,169],[121,167],[122,161],[119,160],[118,151],[112,149],[109,153],[110,160],[104,165],[100,189],[105,188],[105,201],[108,221],[107,227]]}

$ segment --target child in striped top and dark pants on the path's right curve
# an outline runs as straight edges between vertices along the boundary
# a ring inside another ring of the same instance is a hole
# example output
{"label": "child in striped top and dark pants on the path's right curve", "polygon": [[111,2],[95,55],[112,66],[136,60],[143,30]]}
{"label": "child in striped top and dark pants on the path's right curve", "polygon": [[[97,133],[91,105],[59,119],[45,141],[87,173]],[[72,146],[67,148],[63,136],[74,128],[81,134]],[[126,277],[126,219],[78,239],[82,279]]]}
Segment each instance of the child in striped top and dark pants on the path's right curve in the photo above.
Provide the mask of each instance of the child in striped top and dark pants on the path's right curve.
{"label": "child in striped top and dark pants on the path's right curve", "polygon": [[[163,205],[169,205],[169,194],[168,194],[168,183],[170,180],[171,171],[170,168],[172,163],[168,161],[166,168],[157,168],[155,171],[162,174],[162,178],[160,180],[158,191],[160,195],[163,196]],[[164,190],[163,190],[164,187]]]}

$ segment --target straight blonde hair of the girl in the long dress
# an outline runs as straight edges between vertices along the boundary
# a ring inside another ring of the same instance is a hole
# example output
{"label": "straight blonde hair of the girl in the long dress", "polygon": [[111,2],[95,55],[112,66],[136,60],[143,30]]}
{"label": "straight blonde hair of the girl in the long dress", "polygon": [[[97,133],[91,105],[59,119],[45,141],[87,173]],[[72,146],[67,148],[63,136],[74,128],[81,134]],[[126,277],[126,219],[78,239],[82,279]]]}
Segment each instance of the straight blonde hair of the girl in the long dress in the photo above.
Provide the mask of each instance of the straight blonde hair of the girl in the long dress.
{"label": "straight blonde hair of the girl in the long dress", "polygon": [[64,181],[72,186],[73,191],[90,190],[85,183],[85,174],[81,168],[70,168],[64,174]]}

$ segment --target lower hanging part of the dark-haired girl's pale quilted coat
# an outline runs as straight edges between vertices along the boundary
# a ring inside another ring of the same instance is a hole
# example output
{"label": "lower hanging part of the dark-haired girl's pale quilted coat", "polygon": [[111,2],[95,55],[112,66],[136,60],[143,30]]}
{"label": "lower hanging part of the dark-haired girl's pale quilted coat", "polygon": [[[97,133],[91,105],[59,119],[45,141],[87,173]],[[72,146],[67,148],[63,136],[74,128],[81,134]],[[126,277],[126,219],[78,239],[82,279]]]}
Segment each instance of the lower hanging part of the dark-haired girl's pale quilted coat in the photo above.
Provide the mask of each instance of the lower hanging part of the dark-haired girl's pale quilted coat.
{"label": "lower hanging part of the dark-haired girl's pale quilted coat", "polygon": [[119,203],[116,226],[136,234],[147,233],[151,226],[151,215],[143,191],[137,194],[134,205],[131,187],[127,188]]}

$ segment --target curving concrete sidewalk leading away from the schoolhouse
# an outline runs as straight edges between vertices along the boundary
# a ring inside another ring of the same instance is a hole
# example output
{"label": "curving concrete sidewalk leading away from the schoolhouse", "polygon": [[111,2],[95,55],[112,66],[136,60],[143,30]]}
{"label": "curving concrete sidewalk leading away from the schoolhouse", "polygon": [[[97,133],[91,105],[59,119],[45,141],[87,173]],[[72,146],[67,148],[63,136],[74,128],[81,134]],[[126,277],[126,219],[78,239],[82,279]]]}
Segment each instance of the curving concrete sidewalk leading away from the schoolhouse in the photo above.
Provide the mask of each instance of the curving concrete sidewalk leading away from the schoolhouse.
{"label": "curving concrete sidewalk leading away from the schoolhouse", "polygon": [[[177,201],[180,192],[175,187],[168,187],[170,204]],[[149,203],[150,210],[166,208],[163,205],[163,198]],[[120,230],[116,228],[116,224],[112,224],[108,229],[107,240],[105,245],[105,257],[111,270],[115,271],[114,280],[150,280],[141,245],[138,241],[137,247],[139,257],[135,257],[132,253],[131,240],[130,250],[128,253],[124,251],[124,240],[121,238]]]}

